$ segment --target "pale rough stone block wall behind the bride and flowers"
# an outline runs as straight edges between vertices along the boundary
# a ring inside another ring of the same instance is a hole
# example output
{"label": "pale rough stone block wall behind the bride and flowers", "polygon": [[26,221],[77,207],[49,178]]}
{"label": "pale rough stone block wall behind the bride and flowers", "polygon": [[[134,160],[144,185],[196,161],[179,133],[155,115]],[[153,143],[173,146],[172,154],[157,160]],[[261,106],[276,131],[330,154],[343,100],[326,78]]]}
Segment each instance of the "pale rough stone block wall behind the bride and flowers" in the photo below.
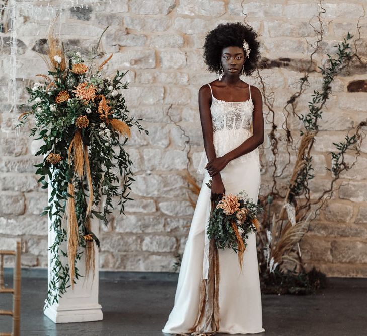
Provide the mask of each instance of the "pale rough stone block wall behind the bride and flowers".
{"label": "pale rough stone block wall behind the bride and flowers", "polygon": [[[29,4],[30,2],[25,2]],[[33,2],[37,6],[37,2]],[[40,2],[43,6],[45,2]],[[55,3],[61,2],[53,2]],[[241,7],[243,4],[243,8]],[[197,92],[215,75],[206,71],[202,58],[205,33],[218,23],[243,21],[254,27],[262,43],[261,70],[267,88],[274,91],[276,118],[282,121],[282,107],[297,90],[297,80],[313,51],[316,40],[319,1],[278,0],[129,0],[101,1],[84,8],[62,11],[61,34],[67,48],[85,52],[109,28],[102,47],[113,57],[107,74],[129,70],[126,100],[131,113],[144,118],[150,136],[134,134],[129,152],[135,163],[136,182],[126,217],[113,214],[108,227],[101,226],[100,266],[110,270],[173,271],[177,253],[182,253],[193,208],[188,200],[185,171],[201,185],[196,167],[202,146]],[[56,4],[57,5],[57,4]],[[56,6],[55,5],[55,6]],[[357,20],[367,11],[361,0],[324,1],[320,62],[347,31],[357,33]],[[42,11],[41,11],[42,12]],[[50,16],[32,16],[27,9],[17,18],[18,103],[26,101],[24,88],[39,80],[35,74],[46,67],[36,51],[42,49]],[[4,18],[3,18],[4,20]],[[360,55],[367,56],[366,20],[360,21]],[[47,224],[38,214],[46,206],[47,194],[37,184],[33,164],[35,145],[28,129],[15,131],[17,115],[9,112],[10,62],[9,32],[0,33],[2,73],[0,76],[1,162],[0,162],[0,248],[12,248],[22,238],[24,266],[46,267]],[[346,131],[365,118],[364,71],[338,77],[327,103],[320,136],[314,151],[316,178],[311,182],[317,196],[328,186],[332,142],[341,141]],[[321,83],[312,73],[311,88],[299,99],[299,111],[307,109],[313,89]],[[257,85],[256,76],[245,81]],[[360,82],[355,82],[360,80]],[[359,83],[359,84],[358,84]],[[268,110],[264,106],[264,115]],[[293,123],[297,134],[299,123]],[[270,124],[266,122],[266,133]],[[355,168],[343,174],[329,206],[313,222],[312,231],[301,244],[307,267],[316,265],[330,276],[367,277],[367,188],[365,167],[367,144]],[[32,147],[33,146],[33,147]],[[272,157],[269,141],[261,148],[262,185],[267,191]],[[280,157],[282,151],[280,150]],[[188,161],[188,158],[190,161]],[[284,162],[283,162],[284,164]],[[284,180],[289,172],[284,172]],[[350,182],[349,182],[350,181]]]}

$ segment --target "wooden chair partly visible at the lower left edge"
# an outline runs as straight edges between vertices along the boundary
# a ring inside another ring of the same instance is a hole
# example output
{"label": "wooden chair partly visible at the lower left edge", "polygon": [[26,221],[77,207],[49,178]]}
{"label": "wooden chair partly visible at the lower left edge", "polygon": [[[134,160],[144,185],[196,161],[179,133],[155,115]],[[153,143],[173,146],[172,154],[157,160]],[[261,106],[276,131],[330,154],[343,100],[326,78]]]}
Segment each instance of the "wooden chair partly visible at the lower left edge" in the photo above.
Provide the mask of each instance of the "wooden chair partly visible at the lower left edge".
{"label": "wooden chair partly visible at the lower left edge", "polygon": [[[13,286],[8,288],[4,286],[4,255],[15,256]],[[0,310],[0,315],[13,317],[13,332],[0,333],[0,336],[19,336],[20,335],[20,295],[21,295],[21,242],[17,242],[16,251],[0,250],[0,294],[13,294],[13,310]]]}

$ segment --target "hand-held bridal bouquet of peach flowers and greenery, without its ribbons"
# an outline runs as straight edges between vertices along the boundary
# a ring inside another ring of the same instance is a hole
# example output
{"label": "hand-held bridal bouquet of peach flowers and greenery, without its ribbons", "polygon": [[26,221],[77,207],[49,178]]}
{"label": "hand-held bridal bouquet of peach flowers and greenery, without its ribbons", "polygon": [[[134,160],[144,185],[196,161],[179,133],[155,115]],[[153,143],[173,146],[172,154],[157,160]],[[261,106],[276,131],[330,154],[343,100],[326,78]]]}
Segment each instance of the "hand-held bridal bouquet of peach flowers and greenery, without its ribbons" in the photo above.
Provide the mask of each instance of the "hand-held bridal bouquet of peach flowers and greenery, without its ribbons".
{"label": "hand-held bridal bouquet of peach flowers and greenery, without its ribbons", "polygon": [[[210,182],[207,184],[209,188]],[[244,191],[224,195],[212,208],[207,235],[214,239],[217,249],[231,248],[238,253],[241,269],[248,235],[260,228],[256,215],[261,211],[262,208],[253,203]]]}

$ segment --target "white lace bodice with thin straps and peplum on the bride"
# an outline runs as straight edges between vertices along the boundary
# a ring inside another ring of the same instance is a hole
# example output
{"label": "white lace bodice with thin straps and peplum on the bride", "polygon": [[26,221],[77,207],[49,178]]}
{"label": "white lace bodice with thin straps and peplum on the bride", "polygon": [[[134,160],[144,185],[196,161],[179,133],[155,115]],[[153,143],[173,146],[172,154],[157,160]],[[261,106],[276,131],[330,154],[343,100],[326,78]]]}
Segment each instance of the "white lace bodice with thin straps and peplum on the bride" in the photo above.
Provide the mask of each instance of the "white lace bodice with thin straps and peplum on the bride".
{"label": "white lace bodice with thin straps and peplum on the bride", "polygon": [[[251,99],[250,86],[250,99],[246,101],[228,102],[216,99],[210,84],[208,85],[212,96],[210,111],[213,122],[214,148],[216,156],[219,157],[240,146],[252,135],[251,126],[254,105]],[[230,161],[228,165],[246,164],[249,163],[249,160],[260,167],[257,148],[250,153]],[[207,163],[206,153],[203,151],[197,172],[204,173]]]}

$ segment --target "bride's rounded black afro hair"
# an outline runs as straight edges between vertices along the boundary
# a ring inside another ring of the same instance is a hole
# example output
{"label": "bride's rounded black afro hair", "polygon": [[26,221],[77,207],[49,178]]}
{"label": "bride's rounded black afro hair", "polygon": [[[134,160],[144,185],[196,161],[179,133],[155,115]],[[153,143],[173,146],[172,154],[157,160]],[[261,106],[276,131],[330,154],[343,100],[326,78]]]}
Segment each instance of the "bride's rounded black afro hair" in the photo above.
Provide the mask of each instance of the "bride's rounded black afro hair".
{"label": "bride's rounded black afro hair", "polygon": [[[217,72],[221,66],[222,50],[227,47],[243,48],[245,40],[250,48],[249,58],[245,61],[245,74],[251,75],[260,58],[259,41],[257,33],[250,26],[240,22],[219,24],[215,29],[207,33],[204,43],[204,59],[210,72]],[[246,56],[246,52],[244,51]]]}

